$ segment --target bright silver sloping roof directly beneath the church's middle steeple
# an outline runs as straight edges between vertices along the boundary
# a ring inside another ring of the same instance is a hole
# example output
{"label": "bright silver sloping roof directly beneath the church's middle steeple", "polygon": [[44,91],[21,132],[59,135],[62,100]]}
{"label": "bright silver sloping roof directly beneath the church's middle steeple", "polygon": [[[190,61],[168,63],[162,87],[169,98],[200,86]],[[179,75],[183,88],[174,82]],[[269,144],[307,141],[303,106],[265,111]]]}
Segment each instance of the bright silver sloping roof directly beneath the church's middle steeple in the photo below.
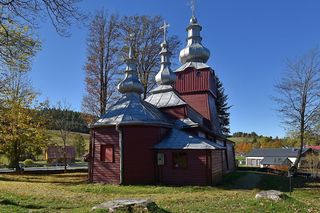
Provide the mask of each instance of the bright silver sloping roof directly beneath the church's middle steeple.
{"label": "bright silver sloping roof directly beneath the church's middle steeple", "polygon": [[157,108],[186,105],[170,85],[156,87],[145,101]]}

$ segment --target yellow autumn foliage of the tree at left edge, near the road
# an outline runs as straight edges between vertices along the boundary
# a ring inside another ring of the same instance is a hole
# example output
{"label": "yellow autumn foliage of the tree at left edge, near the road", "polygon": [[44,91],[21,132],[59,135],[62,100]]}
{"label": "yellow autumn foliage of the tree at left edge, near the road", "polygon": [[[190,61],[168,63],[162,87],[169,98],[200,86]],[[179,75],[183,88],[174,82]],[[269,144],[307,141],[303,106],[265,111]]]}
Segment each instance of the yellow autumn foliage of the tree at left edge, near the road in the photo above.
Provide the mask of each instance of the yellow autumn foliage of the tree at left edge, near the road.
{"label": "yellow autumn foliage of the tree at left edge, near the road", "polygon": [[[34,101],[34,95],[12,98],[0,106],[0,142],[2,151],[15,155],[14,145],[24,152],[39,147],[46,141],[46,129],[43,118],[28,108]],[[17,145],[18,144],[18,145]]]}

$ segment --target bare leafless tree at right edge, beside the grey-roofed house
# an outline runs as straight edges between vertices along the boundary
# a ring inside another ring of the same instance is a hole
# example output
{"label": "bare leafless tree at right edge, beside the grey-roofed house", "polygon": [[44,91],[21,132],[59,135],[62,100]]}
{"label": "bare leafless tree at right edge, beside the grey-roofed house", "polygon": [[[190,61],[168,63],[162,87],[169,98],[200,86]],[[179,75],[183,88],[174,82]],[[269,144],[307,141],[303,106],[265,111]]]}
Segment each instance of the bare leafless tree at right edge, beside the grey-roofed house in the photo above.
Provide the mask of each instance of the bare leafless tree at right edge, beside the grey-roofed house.
{"label": "bare leafless tree at right edge, beside the grey-roofed house", "polygon": [[275,98],[283,122],[299,134],[300,150],[292,170],[298,168],[305,133],[319,123],[320,115],[320,53],[313,49],[297,61],[288,61],[287,73],[276,85]]}

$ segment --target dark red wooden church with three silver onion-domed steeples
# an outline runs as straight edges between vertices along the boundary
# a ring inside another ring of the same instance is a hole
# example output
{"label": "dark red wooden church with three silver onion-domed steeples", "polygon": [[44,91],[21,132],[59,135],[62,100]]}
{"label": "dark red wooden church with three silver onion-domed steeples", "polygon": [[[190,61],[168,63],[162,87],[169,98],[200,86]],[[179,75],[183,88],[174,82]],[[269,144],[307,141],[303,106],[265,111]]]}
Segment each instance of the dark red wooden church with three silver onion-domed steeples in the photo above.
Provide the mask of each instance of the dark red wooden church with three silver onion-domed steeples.
{"label": "dark red wooden church with three silver onion-domed steeples", "polygon": [[215,73],[206,64],[210,51],[201,44],[201,30],[193,16],[175,71],[164,36],[158,87],[146,100],[130,48],[118,85],[123,97],[91,126],[91,182],[212,185],[235,169],[234,144],[220,130]]}

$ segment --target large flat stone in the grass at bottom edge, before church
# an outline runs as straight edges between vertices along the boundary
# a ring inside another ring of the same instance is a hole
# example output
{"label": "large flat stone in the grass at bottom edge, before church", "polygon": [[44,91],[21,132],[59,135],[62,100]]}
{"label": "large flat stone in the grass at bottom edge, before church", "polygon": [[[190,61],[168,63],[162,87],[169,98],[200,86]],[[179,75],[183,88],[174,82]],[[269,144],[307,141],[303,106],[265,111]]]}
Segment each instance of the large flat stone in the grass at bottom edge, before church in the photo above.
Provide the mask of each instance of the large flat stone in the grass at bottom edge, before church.
{"label": "large flat stone in the grass at bottom edge, before church", "polygon": [[147,199],[118,199],[101,203],[92,208],[92,210],[98,209],[109,212],[153,212],[158,209],[158,206],[152,200]]}

